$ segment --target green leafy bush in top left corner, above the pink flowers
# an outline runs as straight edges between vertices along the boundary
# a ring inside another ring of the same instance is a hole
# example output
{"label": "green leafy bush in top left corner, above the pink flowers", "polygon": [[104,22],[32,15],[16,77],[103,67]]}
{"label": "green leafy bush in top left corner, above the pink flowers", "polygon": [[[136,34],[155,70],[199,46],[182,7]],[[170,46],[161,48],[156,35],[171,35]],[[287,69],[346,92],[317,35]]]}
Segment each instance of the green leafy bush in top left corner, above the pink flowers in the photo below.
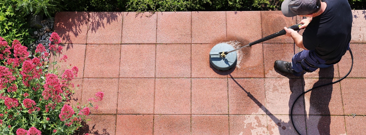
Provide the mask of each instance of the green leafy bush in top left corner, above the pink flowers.
{"label": "green leafy bush in top left corner, above the pink flowers", "polygon": [[18,39],[29,45],[35,39],[29,34],[24,13],[16,11],[13,4],[11,1],[0,3],[0,36],[7,41]]}

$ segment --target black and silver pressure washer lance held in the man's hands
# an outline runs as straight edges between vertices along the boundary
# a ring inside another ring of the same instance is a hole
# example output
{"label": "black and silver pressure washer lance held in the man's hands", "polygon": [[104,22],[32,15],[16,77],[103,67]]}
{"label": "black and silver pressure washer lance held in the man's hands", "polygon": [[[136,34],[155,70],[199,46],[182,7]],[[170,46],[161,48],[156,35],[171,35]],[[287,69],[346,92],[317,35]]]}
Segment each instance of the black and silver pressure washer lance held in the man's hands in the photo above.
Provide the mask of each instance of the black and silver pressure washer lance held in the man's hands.
{"label": "black and silver pressure washer lance held in the man's hands", "polygon": [[[290,26],[290,27],[288,27],[289,29],[293,29],[293,30],[299,30],[299,27],[300,26],[302,26],[302,24],[297,24],[297,25],[292,25],[292,26]],[[280,35],[284,35],[284,34],[286,34],[286,31],[285,31],[285,29],[283,29],[283,30],[281,30],[281,31],[278,31],[277,33],[274,33],[274,34],[272,34],[272,35],[268,35],[267,37],[264,37],[264,38],[261,38],[261,39],[259,39],[259,40],[256,40],[256,41],[254,41],[254,42],[251,42],[251,43],[249,43],[248,45],[245,45],[245,46],[242,46],[242,47],[240,47],[240,48],[236,48],[236,49],[234,49],[234,50],[231,50],[231,51],[229,51],[229,52],[219,52],[219,53],[210,53],[210,55],[220,55],[221,57],[226,57],[226,55],[228,54],[228,53],[231,53],[231,52],[234,52],[234,51],[236,51],[236,50],[239,50],[239,49],[242,49],[242,48],[244,48],[244,47],[247,47],[247,46],[252,46],[252,45],[255,45],[255,44],[258,44],[258,43],[260,43],[260,42],[264,42],[264,41],[267,41],[267,40],[270,40],[270,39],[272,39],[272,38],[275,38],[275,37],[278,37],[278,36],[280,36]]]}

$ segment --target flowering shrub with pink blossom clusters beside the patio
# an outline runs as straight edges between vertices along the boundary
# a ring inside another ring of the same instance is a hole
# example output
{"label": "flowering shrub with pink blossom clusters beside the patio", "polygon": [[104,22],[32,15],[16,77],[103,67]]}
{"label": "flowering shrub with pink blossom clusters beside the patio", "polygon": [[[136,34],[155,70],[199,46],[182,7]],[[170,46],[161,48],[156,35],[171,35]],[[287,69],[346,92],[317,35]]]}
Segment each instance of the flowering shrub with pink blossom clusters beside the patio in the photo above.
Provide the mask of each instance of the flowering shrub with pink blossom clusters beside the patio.
{"label": "flowering shrub with pink blossom clusters beside the patio", "polygon": [[[59,36],[52,33],[50,41],[53,57],[61,55]],[[65,104],[74,93],[72,80],[78,68],[67,69],[62,75],[57,68],[48,71],[49,57],[42,44],[29,59],[27,48],[14,40],[11,45],[0,37],[0,134],[51,135],[73,134],[82,127],[93,104],[76,106]],[[62,57],[61,60],[66,60]],[[61,61],[60,60],[60,61]],[[53,62],[53,65],[56,63]],[[96,93],[98,102],[104,93]],[[97,106],[96,106],[97,107]]]}

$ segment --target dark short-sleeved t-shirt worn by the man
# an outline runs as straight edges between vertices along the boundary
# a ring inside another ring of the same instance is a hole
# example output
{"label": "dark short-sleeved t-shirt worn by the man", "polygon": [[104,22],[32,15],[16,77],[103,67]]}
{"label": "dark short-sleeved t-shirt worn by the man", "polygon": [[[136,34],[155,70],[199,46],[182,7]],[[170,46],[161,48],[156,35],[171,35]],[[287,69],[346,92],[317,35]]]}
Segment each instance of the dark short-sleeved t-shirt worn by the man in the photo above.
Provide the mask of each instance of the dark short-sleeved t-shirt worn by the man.
{"label": "dark short-sleeved t-shirt worn by the man", "polygon": [[323,0],[325,11],[316,17],[303,32],[303,44],[308,50],[335,64],[346,53],[351,41],[352,11],[347,0]]}

